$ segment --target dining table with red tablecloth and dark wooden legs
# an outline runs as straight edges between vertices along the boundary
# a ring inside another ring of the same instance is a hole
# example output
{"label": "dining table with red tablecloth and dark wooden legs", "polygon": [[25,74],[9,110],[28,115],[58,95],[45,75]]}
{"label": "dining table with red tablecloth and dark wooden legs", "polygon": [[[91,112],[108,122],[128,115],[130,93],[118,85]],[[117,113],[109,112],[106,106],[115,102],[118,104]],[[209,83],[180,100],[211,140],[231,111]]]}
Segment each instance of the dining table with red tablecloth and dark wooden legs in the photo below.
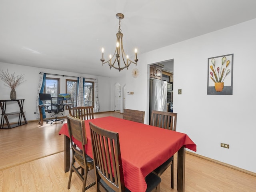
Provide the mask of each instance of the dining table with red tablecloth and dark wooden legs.
{"label": "dining table with red tablecloth and dark wooden legs", "polygon": [[[125,186],[132,192],[146,190],[145,177],[178,151],[178,192],[184,192],[185,149],[196,151],[196,144],[186,135],[115,117],[85,120],[86,154],[93,157],[89,122],[119,133]],[[67,124],[59,134],[65,135],[65,172],[70,167],[70,140]],[[78,146],[81,143],[76,142]]]}

